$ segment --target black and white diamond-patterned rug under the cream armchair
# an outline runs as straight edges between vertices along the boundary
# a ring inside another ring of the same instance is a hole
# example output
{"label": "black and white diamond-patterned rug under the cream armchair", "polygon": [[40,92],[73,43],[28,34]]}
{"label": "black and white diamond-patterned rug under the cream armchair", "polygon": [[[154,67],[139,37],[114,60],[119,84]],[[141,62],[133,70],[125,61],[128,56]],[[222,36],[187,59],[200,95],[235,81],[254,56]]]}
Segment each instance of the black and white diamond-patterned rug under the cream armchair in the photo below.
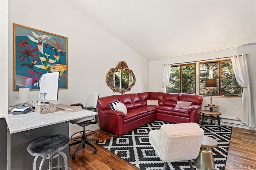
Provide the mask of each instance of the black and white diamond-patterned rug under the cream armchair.
{"label": "black and white diamond-patterned rug under the cream armchair", "polygon": [[[163,124],[172,124],[164,121],[153,121],[142,127],[136,128],[121,138],[114,136],[98,144],[110,150],[120,158],[130,162],[140,170],[162,170],[164,162],[157,155],[152,156],[152,146],[148,139],[148,132],[160,129]],[[201,124],[199,123],[201,126]],[[204,123],[204,135],[210,136],[218,141],[218,146],[212,148],[214,164],[216,170],[224,170],[230,144],[232,127],[221,126],[221,131],[217,125]],[[193,164],[193,162],[192,162]],[[194,166],[193,166],[194,167]],[[168,162],[167,170],[189,170],[188,161]],[[194,169],[196,169],[194,167]]]}

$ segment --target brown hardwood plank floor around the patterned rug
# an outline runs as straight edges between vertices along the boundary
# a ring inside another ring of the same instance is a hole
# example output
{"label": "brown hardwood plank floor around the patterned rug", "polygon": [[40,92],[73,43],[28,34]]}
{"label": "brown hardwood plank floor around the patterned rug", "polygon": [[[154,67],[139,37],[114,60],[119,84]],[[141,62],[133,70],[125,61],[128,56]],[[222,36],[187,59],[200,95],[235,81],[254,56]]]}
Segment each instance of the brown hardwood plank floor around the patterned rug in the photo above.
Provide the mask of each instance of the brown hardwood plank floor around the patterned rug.
{"label": "brown hardwood plank floor around the patterned rug", "polygon": [[[100,142],[115,136],[102,130],[96,130],[96,132],[96,137]],[[78,145],[70,147],[69,166],[72,170],[138,170],[96,142],[92,143],[97,147],[96,154],[93,154],[91,147],[86,146],[83,150],[78,151],[75,159],[72,159],[71,156]],[[225,169],[256,170],[255,130],[233,127]]]}

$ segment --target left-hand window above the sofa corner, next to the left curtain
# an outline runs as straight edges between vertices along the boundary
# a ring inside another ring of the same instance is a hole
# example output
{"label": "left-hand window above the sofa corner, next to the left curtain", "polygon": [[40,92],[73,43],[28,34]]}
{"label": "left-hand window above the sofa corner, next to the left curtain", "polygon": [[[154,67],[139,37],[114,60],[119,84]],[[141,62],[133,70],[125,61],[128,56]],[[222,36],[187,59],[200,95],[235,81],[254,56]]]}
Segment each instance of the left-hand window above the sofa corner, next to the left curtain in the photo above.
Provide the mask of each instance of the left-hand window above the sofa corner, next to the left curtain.
{"label": "left-hand window above the sofa corner, next to the left curtain", "polygon": [[168,93],[196,93],[196,63],[171,66]]}

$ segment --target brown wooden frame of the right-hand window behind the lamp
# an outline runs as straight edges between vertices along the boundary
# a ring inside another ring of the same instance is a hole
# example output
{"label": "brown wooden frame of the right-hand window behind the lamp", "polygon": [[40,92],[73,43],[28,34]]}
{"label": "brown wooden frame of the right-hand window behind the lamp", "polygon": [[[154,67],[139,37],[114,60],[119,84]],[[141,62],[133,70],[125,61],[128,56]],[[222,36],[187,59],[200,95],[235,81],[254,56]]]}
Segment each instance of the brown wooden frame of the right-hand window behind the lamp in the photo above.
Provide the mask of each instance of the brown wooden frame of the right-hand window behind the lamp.
{"label": "brown wooden frame of the right-hand window behind the lamp", "polygon": [[241,95],[230,95],[230,94],[221,94],[221,62],[225,62],[225,61],[231,61],[231,59],[220,59],[220,60],[212,60],[212,61],[202,61],[202,62],[198,62],[198,94],[199,95],[204,95],[204,96],[210,96],[210,94],[201,94],[200,93],[200,64],[202,63],[217,63],[218,62],[218,95],[214,95],[212,94],[212,96],[222,96],[222,97],[242,97],[242,93],[243,93],[243,87],[241,86]]}

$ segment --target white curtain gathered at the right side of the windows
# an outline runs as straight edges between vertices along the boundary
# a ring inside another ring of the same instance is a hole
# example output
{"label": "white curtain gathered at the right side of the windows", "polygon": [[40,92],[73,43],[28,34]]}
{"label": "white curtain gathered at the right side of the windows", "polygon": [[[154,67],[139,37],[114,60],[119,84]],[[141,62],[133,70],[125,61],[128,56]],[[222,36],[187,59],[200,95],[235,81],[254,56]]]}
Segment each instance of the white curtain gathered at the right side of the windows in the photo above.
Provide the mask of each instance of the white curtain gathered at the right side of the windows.
{"label": "white curtain gathered at the right side of the windows", "polygon": [[252,99],[251,99],[251,89],[250,89],[250,79],[248,73],[248,65],[246,54],[233,55],[232,65],[234,69],[234,73],[236,76],[236,81],[242,87],[244,87],[242,93],[242,106],[238,111],[237,118],[243,123],[244,125],[255,128],[255,119],[254,113],[252,111]]}

